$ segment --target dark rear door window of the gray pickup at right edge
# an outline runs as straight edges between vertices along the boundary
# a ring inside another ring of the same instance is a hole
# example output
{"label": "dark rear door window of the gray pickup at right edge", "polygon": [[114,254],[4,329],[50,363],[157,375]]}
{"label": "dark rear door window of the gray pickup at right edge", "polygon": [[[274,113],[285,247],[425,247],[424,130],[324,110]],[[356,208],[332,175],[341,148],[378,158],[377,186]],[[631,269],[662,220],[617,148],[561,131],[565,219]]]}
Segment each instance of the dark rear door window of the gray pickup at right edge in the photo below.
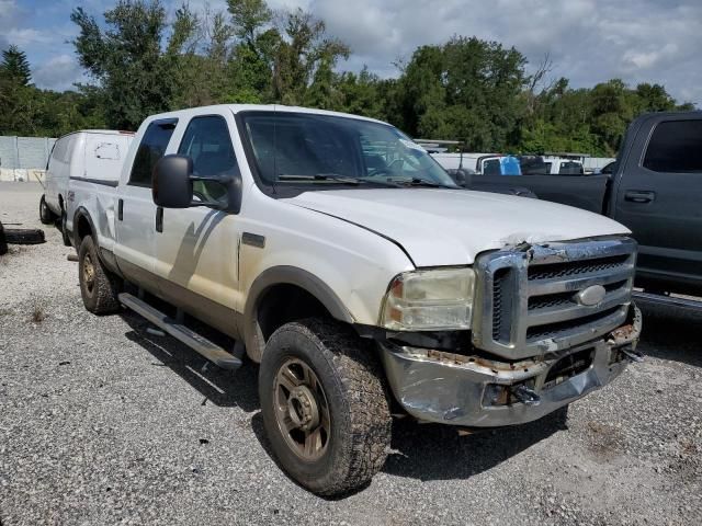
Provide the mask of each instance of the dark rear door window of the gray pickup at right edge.
{"label": "dark rear door window of the gray pickup at right edge", "polygon": [[658,124],[646,148],[644,168],[654,172],[702,173],[702,119]]}

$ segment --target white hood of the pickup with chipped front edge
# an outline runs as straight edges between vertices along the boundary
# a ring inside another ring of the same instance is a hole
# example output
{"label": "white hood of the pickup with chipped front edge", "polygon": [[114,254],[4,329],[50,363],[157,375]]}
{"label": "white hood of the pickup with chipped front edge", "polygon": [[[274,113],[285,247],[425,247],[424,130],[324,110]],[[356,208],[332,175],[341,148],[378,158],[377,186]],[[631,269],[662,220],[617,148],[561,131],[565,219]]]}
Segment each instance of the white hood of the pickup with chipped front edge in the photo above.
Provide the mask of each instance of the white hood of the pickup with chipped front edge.
{"label": "white hood of the pickup with chipped front edge", "polygon": [[283,201],[387,237],[416,266],[471,264],[483,251],[522,242],[631,233],[616,221],[570,206],[465,190],[329,190]]}

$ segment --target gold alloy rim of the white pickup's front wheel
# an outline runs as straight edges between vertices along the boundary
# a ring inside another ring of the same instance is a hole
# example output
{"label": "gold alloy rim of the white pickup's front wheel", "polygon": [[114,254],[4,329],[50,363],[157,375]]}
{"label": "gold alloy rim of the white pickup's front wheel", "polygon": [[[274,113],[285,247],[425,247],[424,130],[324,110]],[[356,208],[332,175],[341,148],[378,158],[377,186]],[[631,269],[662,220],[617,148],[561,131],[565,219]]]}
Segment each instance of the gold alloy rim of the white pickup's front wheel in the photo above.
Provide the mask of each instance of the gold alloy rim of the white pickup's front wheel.
{"label": "gold alloy rim of the white pickup's front wheel", "polygon": [[325,391],[312,368],[287,359],[274,380],[275,421],[288,447],[312,461],[327,450],[331,422]]}

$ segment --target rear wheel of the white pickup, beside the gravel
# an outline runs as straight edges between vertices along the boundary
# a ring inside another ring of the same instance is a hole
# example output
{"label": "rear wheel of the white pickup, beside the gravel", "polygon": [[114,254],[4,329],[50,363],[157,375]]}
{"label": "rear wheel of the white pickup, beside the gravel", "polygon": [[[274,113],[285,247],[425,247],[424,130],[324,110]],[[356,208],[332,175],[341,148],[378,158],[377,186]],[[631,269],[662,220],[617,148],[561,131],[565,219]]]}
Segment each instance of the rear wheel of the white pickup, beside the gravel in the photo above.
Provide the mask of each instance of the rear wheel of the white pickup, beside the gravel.
{"label": "rear wheel of the white pickup, beside the gravel", "polygon": [[83,305],[90,312],[109,315],[120,310],[121,281],[103,266],[92,236],[86,236],[78,249],[78,279]]}

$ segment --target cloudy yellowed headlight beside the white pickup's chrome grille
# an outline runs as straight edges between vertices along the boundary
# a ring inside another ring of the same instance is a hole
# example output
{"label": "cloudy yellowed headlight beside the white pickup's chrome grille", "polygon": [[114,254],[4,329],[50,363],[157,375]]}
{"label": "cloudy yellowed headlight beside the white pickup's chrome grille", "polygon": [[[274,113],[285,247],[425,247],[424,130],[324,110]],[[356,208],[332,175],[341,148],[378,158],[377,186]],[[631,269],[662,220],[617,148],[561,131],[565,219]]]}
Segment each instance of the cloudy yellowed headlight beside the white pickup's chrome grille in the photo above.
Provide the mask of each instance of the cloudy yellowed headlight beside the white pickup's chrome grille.
{"label": "cloudy yellowed headlight beside the white pickup's chrome grille", "polygon": [[469,329],[474,289],[471,268],[399,274],[385,296],[381,323],[394,331]]}

